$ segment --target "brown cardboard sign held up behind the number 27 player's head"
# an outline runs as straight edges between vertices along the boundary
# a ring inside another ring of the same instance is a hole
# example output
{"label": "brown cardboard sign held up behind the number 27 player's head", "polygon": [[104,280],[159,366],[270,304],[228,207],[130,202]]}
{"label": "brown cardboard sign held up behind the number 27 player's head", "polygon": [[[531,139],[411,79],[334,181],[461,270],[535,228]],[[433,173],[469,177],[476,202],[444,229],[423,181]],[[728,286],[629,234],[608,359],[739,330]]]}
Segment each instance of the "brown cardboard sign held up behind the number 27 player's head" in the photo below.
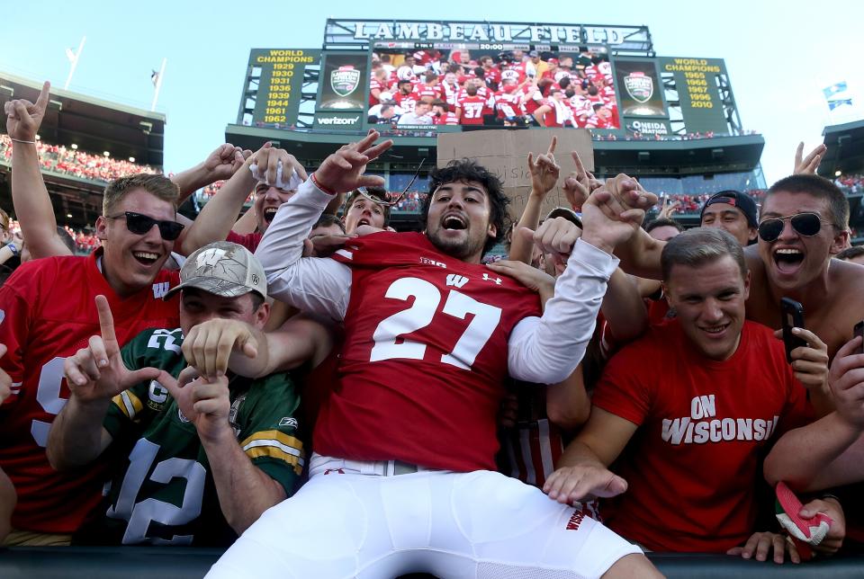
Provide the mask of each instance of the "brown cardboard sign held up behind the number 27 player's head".
{"label": "brown cardboard sign held up behind the number 27 player's head", "polygon": [[561,185],[567,175],[576,170],[571,151],[576,151],[582,165],[594,171],[594,147],[586,129],[529,129],[529,130],[472,130],[462,133],[438,135],[438,166],[453,159],[468,157],[498,175],[504,192],[510,198],[510,217],[518,219],[525,209],[531,192],[531,172],[528,170],[528,152],[535,156],[545,153],[552,136],[558,137],[555,161],[561,166],[558,185],[546,194],[540,215],[545,216],[556,207],[569,207]]}

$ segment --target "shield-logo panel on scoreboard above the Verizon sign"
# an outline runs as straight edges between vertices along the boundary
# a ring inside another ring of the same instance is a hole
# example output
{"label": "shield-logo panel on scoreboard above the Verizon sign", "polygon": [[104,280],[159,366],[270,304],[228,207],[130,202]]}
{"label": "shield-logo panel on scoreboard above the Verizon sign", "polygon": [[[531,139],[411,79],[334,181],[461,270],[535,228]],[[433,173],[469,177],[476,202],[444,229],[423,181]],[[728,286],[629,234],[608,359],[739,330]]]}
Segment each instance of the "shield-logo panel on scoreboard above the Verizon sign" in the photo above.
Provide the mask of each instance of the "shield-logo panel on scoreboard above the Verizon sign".
{"label": "shield-logo panel on scoreboard above the Verizon sign", "polygon": [[328,52],[321,64],[317,111],[365,111],[368,60],[365,52]]}

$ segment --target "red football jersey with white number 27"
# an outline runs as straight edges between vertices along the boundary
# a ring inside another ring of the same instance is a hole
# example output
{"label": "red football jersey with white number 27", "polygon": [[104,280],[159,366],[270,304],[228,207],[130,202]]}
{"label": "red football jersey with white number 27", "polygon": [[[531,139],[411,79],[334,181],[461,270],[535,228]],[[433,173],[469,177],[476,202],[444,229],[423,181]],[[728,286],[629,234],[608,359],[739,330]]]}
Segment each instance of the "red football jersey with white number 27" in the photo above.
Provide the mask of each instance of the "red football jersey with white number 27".
{"label": "red football jersey with white number 27", "polygon": [[540,315],[536,294],[419,233],[352,239],[339,383],[315,425],[316,451],[457,472],[495,469],[508,340]]}

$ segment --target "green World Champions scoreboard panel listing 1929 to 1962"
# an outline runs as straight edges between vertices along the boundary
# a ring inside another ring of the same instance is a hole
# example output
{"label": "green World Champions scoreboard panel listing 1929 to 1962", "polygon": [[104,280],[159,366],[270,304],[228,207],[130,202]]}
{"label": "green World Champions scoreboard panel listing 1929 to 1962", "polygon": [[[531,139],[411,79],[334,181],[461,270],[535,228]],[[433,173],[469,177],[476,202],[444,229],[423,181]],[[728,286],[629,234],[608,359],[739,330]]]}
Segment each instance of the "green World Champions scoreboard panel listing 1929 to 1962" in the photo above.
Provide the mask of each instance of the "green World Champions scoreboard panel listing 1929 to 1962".
{"label": "green World Champions scoreboard panel listing 1929 to 1962", "polygon": [[249,68],[260,75],[252,122],[295,124],[302,101],[303,73],[306,67],[317,66],[320,58],[319,49],[252,49]]}

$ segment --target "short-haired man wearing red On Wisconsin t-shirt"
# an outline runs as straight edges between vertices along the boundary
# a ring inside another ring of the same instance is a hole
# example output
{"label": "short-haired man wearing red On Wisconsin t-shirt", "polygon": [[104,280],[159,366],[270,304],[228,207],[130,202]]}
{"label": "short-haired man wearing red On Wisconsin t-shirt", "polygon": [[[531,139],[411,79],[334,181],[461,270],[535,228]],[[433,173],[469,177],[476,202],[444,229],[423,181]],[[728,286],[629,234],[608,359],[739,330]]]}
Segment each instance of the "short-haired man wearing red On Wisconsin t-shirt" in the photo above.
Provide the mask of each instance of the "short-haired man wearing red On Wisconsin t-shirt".
{"label": "short-haired man wearing red On Wisconsin t-shirt", "polygon": [[[677,317],[609,361],[589,422],[545,490],[562,502],[616,497],[601,505],[604,518],[646,548],[735,553],[765,535],[753,534],[761,453],[812,418],[807,388],[827,379],[827,347],[802,330],[809,345],[794,351],[793,368],[770,328],[745,321],[750,274],[723,230],[672,237],[662,270]],[[620,477],[608,470],[615,459]],[[582,483],[562,493],[574,477]],[[776,562],[783,543],[773,541]]]}

